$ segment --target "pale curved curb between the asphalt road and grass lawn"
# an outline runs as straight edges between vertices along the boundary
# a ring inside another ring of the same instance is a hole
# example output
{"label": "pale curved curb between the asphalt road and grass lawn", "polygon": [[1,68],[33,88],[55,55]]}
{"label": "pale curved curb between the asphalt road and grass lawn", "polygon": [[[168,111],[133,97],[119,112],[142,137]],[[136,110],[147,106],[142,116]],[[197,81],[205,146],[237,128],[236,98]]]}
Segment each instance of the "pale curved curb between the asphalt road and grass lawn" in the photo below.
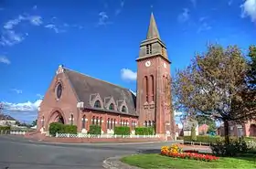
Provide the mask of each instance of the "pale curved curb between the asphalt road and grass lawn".
{"label": "pale curved curb between the asphalt road and grass lawn", "polygon": [[[138,154],[138,153],[135,153],[135,154]],[[132,154],[132,155],[134,155],[134,154]],[[125,156],[127,156],[127,155],[120,155],[120,156],[114,156],[114,157],[107,158],[106,160],[104,160],[102,162],[102,167],[107,168],[107,169],[141,169],[139,167],[131,166],[129,164],[123,164],[120,161],[120,159],[122,159]]]}

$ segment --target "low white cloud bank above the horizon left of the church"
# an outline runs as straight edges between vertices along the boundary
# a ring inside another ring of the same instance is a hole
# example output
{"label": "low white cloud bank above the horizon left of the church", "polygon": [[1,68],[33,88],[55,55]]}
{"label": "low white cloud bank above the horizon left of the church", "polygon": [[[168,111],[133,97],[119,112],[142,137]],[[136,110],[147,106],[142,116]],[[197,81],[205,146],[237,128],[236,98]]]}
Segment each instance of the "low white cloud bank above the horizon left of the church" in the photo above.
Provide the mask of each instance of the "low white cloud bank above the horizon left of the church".
{"label": "low white cloud bank above the horizon left of the church", "polygon": [[42,100],[36,100],[35,102],[23,102],[23,103],[11,103],[11,102],[3,102],[5,111],[18,111],[18,112],[31,112],[37,111],[40,106]]}

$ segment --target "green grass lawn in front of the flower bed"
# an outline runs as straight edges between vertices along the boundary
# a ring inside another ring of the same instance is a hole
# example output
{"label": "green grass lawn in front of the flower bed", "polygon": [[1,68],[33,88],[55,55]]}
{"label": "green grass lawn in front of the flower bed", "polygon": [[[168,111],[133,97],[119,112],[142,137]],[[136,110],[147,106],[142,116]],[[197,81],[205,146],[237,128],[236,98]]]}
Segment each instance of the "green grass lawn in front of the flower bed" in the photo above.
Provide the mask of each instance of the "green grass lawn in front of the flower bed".
{"label": "green grass lawn in front of the flower bed", "polygon": [[157,153],[136,154],[126,156],[121,159],[125,164],[138,166],[141,168],[256,168],[256,156],[246,157],[220,157],[216,162],[202,162],[188,159],[177,159],[162,156]]}

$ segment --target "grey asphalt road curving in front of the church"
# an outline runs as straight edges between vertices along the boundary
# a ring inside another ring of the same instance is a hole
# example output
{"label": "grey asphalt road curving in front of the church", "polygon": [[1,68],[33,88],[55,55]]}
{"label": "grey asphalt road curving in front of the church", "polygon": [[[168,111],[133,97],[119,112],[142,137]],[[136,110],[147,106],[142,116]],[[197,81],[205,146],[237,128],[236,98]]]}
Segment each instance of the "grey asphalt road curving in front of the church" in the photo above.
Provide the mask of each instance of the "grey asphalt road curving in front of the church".
{"label": "grey asphalt road curving in front of the church", "polygon": [[159,150],[170,143],[55,144],[0,135],[0,169],[101,169],[102,161],[115,155]]}

